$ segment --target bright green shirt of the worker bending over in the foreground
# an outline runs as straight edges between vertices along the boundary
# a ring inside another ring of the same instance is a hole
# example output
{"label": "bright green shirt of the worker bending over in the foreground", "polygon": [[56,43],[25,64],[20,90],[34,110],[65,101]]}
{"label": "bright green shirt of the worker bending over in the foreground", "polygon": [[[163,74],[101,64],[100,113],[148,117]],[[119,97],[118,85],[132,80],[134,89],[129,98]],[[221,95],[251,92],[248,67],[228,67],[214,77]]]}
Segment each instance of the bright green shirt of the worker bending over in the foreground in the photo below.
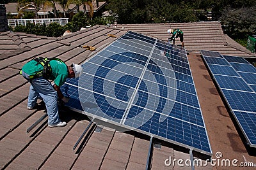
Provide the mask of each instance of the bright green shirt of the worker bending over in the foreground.
{"label": "bright green shirt of the worker bending over in the foreground", "polygon": [[[37,62],[35,60],[31,60],[22,67],[22,71],[29,74],[29,76],[35,75],[38,73],[38,71],[43,70],[43,66],[41,64],[36,64]],[[50,65],[52,67],[52,76],[49,78],[49,80],[53,80],[58,87],[61,87],[68,77],[67,65],[58,60],[51,60]]]}

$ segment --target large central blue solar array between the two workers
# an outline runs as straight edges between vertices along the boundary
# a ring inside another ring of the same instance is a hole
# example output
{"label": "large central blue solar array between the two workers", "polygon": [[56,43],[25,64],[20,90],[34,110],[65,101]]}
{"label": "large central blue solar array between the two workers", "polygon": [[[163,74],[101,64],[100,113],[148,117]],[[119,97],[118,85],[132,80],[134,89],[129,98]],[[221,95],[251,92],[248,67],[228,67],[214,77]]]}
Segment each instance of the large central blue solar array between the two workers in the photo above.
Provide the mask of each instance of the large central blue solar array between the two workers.
{"label": "large central blue solar array between the two workers", "polygon": [[[67,106],[211,155],[186,50],[127,32],[83,64],[61,87]],[[95,120],[94,119],[94,120]]]}

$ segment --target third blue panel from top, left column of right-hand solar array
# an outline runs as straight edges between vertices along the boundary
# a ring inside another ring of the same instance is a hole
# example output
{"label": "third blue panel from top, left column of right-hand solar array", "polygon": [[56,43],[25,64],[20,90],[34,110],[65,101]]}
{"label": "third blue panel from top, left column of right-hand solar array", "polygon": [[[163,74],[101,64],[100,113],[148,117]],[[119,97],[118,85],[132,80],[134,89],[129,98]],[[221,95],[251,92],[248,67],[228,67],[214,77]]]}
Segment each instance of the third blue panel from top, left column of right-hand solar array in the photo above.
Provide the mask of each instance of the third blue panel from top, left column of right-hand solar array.
{"label": "third blue panel from top, left column of right-hand solar array", "polygon": [[208,65],[211,69],[212,74],[220,74],[227,76],[239,76],[237,72],[231,66],[220,66],[220,65]]}

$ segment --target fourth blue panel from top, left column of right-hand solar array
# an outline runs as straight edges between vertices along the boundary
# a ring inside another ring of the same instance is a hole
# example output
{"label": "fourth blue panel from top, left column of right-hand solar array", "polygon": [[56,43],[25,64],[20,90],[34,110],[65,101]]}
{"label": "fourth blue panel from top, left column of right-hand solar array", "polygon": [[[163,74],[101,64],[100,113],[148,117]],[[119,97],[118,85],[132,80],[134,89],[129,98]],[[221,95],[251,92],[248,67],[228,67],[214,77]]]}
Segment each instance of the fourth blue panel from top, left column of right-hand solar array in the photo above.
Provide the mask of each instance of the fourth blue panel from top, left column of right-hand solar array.
{"label": "fourth blue panel from top, left column of right-hand solar array", "polygon": [[252,89],[241,77],[214,75],[221,89],[243,90],[252,92]]}

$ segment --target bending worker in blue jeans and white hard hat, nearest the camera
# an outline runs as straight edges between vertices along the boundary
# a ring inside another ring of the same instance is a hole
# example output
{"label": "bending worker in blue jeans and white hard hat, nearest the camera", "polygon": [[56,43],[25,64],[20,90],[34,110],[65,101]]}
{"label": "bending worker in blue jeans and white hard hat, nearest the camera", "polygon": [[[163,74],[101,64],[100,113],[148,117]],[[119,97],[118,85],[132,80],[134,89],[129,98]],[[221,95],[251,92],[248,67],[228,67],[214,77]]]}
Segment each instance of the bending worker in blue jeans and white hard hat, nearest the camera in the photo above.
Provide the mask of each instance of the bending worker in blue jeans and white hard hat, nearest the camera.
{"label": "bending worker in blue jeans and white hard hat, nearest the camera", "polygon": [[[61,122],[58,113],[58,97],[68,103],[68,97],[63,96],[60,87],[67,78],[78,78],[83,72],[83,67],[77,64],[67,66],[60,59],[35,58],[22,67],[20,74],[31,85],[28,95],[28,110],[33,110],[38,97],[44,100],[49,127],[63,127],[66,122]],[[53,85],[49,80],[53,80]]]}

